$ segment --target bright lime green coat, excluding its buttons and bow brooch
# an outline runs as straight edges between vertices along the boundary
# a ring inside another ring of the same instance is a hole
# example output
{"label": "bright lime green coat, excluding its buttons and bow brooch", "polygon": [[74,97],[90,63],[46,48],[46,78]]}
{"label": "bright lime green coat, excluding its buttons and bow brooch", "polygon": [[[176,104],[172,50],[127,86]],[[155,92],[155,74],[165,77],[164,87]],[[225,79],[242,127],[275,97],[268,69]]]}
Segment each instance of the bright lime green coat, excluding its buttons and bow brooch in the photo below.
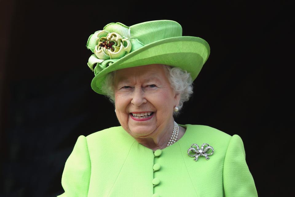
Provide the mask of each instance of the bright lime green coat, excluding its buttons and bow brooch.
{"label": "bright lime green coat, excluding its buttons and bow brooch", "polygon": [[[159,156],[122,127],[81,135],[65,163],[65,193],[59,197],[258,196],[239,135],[204,125],[180,126],[187,128],[183,137]],[[190,157],[187,150],[193,143],[213,147],[210,159]],[[160,164],[157,171],[155,163]],[[153,185],[154,178],[159,178],[158,185]]]}

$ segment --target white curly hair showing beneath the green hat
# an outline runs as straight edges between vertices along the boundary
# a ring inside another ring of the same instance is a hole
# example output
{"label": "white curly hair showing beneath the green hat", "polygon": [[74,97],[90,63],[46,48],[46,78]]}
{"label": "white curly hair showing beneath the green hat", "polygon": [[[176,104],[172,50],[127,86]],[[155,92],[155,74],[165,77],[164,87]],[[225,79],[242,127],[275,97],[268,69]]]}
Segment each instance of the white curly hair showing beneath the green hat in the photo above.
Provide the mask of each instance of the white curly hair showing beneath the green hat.
{"label": "white curly hair showing beneath the green hat", "polygon": [[[172,89],[176,92],[176,94],[180,94],[179,105],[177,106],[179,111],[173,112],[173,115],[177,116],[180,112],[180,109],[183,107],[183,103],[188,101],[193,94],[193,81],[191,79],[191,74],[179,67],[168,66],[164,64],[161,65],[165,66],[166,68],[167,78],[169,79]],[[101,90],[113,104],[115,104],[113,86],[115,72],[116,70],[108,73],[104,83],[101,86]]]}

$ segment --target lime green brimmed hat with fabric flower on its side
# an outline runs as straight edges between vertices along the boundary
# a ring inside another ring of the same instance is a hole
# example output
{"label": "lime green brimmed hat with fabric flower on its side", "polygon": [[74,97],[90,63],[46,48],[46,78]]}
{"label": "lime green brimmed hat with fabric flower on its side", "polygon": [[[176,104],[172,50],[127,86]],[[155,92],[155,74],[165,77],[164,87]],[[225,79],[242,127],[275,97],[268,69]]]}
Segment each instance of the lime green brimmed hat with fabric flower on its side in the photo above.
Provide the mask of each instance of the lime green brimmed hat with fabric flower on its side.
{"label": "lime green brimmed hat with fabric flower on its side", "polygon": [[88,60],[94,71],[92,89],[99,93],[108,73],[148,64],[176,66],[197,78],[210,54],[209,44],[199,37],[182,36],[182,27],[171,20],[138,23],[130,27],[112,22],[88,38]]}

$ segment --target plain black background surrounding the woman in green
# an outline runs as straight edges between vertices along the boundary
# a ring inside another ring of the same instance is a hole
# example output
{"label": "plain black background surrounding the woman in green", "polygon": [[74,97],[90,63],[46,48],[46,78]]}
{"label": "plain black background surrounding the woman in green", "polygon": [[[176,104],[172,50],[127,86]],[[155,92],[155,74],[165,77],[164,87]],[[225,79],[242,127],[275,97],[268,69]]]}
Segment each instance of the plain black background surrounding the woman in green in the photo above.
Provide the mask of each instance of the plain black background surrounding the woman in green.
{"label": "plain black background surrounding the woman in green", "polygon": [[290,173],[285,139],[295,118],[289,2],[10,0],[0,2],[0,196],[63,192],[78,136],[119,125],[112,104],[90,86],[89,35],[110,22],[161,19],[179,22],[183,35],[211,49],[176,122],[240,135],[258,195],[288,189],[281,175]]}

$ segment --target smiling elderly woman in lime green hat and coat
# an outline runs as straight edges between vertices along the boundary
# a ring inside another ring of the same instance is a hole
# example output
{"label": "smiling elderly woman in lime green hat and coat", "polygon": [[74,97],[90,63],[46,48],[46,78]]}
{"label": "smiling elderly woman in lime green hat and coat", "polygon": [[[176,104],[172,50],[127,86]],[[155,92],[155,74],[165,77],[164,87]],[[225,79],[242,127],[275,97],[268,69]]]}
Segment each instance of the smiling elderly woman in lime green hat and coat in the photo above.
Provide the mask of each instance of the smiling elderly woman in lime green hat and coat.
{"label": "smiling elderly woman in lime green hat and coat", "polygon": [[60,197],[257,196],[239,135],[174,121],[210,54],[205,40],[171,20],[116,22],[87,48],[92,89],[114,103],[121,126],[77,139]]}

